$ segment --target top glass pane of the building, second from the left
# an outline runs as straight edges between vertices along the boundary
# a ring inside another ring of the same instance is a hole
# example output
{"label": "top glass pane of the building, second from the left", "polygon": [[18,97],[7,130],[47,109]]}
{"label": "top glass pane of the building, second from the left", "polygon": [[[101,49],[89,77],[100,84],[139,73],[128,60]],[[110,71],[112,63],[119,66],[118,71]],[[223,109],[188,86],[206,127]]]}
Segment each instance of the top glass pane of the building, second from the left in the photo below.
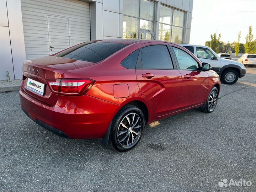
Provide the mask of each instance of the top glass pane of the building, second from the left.
{"label": "top glass pane of the building, second from the left", "polygon": [[[124,0],[125,1],[125,0]],[[155,3],[147,0],[140,0],[140,18],[154,20]]]}

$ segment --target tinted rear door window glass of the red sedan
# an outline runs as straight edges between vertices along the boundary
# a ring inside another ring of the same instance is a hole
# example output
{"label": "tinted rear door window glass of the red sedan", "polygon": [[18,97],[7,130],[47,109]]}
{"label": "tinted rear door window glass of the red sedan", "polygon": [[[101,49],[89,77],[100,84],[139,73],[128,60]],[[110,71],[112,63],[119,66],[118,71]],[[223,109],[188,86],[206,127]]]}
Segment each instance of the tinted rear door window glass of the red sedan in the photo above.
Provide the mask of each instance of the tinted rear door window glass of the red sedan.
{"label": "tinted rear door window glass of the red sedan", "polygon": [[145,69],[173,69],[170,53],[165,45],[144,47],[142,63]]}

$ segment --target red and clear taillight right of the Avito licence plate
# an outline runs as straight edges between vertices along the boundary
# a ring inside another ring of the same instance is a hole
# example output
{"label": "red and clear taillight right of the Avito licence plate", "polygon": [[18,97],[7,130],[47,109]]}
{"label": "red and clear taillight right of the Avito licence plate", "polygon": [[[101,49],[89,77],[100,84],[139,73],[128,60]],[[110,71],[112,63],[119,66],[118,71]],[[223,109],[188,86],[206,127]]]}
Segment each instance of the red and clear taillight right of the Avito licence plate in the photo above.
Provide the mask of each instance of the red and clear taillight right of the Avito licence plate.
{"label": "red and clear taillight right of the Avito licence plate", "polygon": [[53,93],[60,95],[83,95],[95,81],[90,79],[51,79],[47,80]]}

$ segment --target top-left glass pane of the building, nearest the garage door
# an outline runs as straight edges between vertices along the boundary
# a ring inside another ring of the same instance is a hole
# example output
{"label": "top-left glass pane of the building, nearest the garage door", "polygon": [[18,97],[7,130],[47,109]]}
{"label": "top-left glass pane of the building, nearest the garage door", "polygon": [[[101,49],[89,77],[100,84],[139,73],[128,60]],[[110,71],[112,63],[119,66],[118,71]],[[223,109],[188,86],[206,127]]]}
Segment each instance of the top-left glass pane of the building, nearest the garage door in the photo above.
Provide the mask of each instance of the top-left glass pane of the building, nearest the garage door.
{"label": "top-left glass pane of the building, nearest the garage door", "polygon": [[133,17],[139,17],[139,1],[140,0],[124,0],[123,14]]}

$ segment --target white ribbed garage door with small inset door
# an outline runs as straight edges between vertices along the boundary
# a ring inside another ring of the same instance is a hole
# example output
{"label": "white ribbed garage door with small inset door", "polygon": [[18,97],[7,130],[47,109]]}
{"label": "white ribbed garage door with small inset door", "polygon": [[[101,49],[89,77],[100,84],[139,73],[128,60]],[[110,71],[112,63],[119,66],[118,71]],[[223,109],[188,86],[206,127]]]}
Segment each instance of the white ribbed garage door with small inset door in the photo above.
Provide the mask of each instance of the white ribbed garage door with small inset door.
{"label": "white ribbed garage door with small inset door", "polygon": [[90,41],[90,4],[78,0],[21,0],[27,59]]}

